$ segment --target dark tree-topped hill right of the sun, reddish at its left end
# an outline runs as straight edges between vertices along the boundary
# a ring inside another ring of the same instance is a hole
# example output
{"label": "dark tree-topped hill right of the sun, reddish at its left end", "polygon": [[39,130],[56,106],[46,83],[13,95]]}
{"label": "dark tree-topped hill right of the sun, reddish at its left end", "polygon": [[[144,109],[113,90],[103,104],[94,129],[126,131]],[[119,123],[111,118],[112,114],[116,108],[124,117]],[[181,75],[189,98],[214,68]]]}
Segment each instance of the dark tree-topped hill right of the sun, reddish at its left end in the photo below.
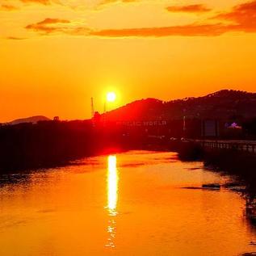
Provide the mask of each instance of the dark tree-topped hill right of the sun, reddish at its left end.
{"label": "dark tree-topped hill right of the sun, reddish at its left end", "polygon": [[244,119],[256,117],[256,93],[220,90],[198,98],[141,99],[106,114],[107,120]]}

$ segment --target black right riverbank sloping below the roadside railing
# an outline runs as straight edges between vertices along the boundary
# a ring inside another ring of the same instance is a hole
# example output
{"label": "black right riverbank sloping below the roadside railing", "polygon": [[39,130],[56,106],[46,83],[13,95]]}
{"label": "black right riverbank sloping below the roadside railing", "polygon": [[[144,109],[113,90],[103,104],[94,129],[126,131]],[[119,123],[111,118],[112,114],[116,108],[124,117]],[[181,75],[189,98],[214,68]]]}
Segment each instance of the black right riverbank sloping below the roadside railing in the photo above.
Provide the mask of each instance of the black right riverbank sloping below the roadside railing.
{"label": "black right riverbank sloping below the roadside railing", "polygon": [[240,191],[246,198],[248,208],[254,211],[250,213],[250,219],[256,223],[256,156],[253,153],[241,152],[235,149],[206,150],[192,142],[180,143],[178,157],[183,161],[202,161],[207,169],[222,174],[233,175],[237,178],[239,186],[245,189]]}

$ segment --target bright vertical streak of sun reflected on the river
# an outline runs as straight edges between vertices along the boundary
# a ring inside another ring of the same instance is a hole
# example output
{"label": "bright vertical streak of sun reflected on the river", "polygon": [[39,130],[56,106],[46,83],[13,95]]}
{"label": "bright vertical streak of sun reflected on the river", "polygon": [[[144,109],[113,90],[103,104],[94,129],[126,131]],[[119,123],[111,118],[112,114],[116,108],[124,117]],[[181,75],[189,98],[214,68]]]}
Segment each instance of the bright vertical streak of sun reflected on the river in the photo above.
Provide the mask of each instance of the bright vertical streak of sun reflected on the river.
{"label": "bright vertical streak of sun reflected on the river", "polygon": [[116,204],[118,200],[118,181],[119,174],[116,169],[116,156],[107,157],[107,211],[110,219],[108,220],[107,226],[107,247],[115,247],[115,232],[116,232],[116,222],[115,216]]}

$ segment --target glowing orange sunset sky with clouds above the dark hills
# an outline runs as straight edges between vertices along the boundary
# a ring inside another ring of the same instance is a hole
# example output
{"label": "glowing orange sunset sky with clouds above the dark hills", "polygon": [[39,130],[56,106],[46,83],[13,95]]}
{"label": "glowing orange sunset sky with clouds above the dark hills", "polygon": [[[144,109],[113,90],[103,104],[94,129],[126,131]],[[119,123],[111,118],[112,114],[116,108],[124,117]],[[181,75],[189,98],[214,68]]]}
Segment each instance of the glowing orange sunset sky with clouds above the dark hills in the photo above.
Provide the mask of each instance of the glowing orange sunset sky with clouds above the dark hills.
{"label": "glowing orange sunset sky with clouds above the dark hills", "polygon": [[256,88],[256,1],[0,0],[0,23],[0,122]]}

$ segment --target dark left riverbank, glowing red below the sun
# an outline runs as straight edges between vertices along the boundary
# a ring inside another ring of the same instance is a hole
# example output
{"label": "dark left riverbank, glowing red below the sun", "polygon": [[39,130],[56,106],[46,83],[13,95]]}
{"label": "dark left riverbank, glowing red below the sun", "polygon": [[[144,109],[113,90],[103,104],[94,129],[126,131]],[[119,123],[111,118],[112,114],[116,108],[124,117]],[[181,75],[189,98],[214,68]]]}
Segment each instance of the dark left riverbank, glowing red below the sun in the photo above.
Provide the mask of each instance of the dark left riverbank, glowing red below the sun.
{"label": "dark left riverbank, glowing red below the sun", "polygon": [[0,142],[0,174],[65,166],[82,157],[131,149],[168,149],[165,141],[91,120],[6,125],[0,127]]}

